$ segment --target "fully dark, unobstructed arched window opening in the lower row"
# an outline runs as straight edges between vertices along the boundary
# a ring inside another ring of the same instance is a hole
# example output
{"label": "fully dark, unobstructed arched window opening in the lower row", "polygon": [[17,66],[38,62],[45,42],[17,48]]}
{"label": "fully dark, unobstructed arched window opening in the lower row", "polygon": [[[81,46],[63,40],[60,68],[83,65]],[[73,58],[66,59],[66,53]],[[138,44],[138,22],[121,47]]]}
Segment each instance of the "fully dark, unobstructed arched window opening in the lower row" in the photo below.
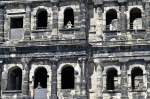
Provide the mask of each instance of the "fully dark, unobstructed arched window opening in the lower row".
{"label": "fully dark, unobstructed arched window opening in the lower row", "polygon": [[64,67],[61,72],[61,88],[74,89],[74,79],[74,68],[72,66]]}

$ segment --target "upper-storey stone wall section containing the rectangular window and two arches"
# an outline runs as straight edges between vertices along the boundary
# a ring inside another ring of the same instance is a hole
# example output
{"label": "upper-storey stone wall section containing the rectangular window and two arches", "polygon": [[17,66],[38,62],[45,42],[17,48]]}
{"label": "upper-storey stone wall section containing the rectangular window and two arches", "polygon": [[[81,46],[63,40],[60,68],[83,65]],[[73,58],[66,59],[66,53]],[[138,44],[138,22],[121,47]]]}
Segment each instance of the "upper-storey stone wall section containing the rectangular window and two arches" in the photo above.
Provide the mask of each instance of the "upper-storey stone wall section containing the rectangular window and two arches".
{"label": "upper-storey stone wall section containing the rectangular window and two arches", "polygon": [[4,41],[86,39],[86,4],[28,1],[2,1]]}

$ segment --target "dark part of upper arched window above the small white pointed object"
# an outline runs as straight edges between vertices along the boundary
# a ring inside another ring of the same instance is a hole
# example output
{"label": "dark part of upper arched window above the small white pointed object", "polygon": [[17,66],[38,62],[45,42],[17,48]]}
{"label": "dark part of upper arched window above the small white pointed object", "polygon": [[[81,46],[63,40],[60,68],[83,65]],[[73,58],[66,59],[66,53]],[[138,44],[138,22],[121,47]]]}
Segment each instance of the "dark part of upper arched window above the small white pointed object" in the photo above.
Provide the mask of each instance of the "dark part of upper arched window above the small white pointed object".
{"label": "dark part of upper arched window above the small white pointed object", "polygon": [[74,10],[72,7],[67,7],[64,10],[64,26],[71,22],[72,26],[74,26]]}

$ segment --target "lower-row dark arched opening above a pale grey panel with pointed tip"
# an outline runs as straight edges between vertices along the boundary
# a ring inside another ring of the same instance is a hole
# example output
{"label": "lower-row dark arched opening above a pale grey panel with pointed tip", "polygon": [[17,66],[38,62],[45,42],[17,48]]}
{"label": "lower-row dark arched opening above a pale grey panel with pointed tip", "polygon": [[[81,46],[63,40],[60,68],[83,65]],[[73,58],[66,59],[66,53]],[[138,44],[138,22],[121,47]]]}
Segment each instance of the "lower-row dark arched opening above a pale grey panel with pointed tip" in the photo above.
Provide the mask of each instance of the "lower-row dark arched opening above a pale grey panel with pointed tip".
{"label": "lower-row dark arched opening above a pale grey panel with pointed tip", "polygon": [[34,88],[47,88],[47,70],[44,67],[39,67],[34,73]]}

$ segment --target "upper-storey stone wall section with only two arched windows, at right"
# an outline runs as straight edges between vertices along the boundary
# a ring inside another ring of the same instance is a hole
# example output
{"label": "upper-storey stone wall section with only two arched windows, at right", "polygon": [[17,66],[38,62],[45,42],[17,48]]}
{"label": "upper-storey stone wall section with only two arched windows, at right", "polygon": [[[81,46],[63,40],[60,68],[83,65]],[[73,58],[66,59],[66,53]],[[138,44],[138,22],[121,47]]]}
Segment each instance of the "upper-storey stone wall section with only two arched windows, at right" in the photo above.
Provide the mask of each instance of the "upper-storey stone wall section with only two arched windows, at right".
{"label": "upper-storey stone wall section with only two arched windows, at right", "polygon": [[[100,0],[90,6],[90,43],[146,43],[149,38],[149,5],[142,0]],[[129,42],[129,41],[135,41]],[[106,45],[107,46],[107,45]]]}

